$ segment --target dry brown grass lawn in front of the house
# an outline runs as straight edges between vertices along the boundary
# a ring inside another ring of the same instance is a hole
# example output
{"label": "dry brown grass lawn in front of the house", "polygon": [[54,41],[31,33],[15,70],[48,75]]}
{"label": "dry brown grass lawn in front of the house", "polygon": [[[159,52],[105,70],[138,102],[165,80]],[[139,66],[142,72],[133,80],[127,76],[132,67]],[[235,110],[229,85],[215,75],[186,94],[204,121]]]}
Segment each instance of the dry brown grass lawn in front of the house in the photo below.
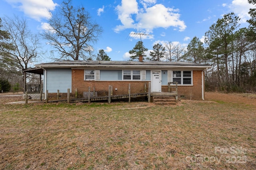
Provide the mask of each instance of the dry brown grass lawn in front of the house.
{"label": "dry brown grass lawn in front of the house", "polygon": [[[206,93],[206,100],[214,102],[10,105],[0,98],[0,167],[255,169],[256,99]],[[143,108],[118,109],[130,107]]]}

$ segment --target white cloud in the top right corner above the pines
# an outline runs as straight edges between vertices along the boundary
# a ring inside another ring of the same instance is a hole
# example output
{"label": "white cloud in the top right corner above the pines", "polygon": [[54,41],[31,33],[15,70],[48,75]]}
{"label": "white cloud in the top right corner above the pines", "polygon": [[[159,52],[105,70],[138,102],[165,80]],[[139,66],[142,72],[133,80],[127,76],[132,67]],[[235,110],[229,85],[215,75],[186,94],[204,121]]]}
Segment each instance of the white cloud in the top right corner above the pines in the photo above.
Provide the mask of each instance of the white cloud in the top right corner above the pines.
{"label": "white cloud in the top right corner above the pines", "polygon": [[249,4],[247,0],[233,0],[228,8],[241,18],[241,23],[246,23],[246,20],[250,19],[250,15],[248,14],[250,8],[255,8],[255,6]]}

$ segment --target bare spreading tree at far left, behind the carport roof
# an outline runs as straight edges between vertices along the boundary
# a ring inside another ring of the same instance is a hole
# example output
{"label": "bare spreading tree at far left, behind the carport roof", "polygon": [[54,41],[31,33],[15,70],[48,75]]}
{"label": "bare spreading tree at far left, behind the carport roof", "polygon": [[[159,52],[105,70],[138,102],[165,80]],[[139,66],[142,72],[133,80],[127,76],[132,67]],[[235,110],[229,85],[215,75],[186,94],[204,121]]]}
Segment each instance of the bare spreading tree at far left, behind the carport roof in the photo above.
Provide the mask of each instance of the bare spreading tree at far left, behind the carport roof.
{"label": "bare spreading tree at far left, behind the carport roof", "polygon": [[15,65],[18,69],[23,70],[36,61],[40,55],[40,41],[36,34],[28,29],[28,23],[18,16],[3,18],[3,28],[9,33],[9,40],[12,48],[3,48],[5,55],[4,61],[9,65]]}

